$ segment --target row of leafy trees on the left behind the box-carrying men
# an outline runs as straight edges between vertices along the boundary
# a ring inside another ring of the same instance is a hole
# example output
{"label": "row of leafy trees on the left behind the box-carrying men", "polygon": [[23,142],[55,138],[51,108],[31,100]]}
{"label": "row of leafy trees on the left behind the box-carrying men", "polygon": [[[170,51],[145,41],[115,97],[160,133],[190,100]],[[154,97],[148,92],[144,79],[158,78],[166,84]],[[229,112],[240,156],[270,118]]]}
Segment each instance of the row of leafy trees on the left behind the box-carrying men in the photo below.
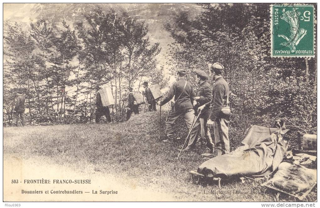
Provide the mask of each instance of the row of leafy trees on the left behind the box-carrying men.
{"label": "row of leafy trees on the left behind the box-carrying men", "polygon": [[165,83],[163,67],[156,62],[159,44],[150,44],[147,24],[101,8],[79,20],[72,27],[65,21],[39,19],[27,31],[18,23],[6,23],[8,117],[16,89],[22,89],[30,124],[86,123],[94,118],[96,87],[108,85],[116,102],[112,115],[120,121],[125,118],[127,87],[137,86],[142,78]]}

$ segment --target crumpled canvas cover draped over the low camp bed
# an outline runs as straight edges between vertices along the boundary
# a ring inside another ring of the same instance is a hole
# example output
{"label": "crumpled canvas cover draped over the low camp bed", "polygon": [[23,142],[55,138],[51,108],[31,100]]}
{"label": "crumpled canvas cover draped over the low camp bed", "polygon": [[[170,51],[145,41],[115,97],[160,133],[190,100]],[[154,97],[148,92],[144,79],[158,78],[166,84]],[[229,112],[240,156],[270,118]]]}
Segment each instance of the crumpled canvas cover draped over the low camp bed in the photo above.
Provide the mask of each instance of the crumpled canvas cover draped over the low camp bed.
{"label": "crumpled canvas cover draped over the low camp bed", "polygon": [[288,149],[283,139],[283,121],[278,120],[275,128],[252,126],[246,133],[242,145],[229,154],[205,161],[198,173],[208,177],[264,176],[274,172]]}

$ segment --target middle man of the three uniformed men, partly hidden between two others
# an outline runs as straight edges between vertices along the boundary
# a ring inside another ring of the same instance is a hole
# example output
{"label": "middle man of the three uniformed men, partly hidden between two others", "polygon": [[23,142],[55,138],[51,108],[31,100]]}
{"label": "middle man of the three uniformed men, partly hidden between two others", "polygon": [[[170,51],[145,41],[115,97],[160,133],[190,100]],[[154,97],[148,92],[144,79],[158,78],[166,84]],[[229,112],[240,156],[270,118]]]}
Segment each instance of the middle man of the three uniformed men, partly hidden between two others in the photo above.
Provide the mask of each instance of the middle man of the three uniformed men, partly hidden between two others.
{"label": "middle man of the three uniformed men, partly hidden between two others", "polygon": [[[212,98],[212,87],[208,83],[208,75],[201,70],[195,69],[195,79],[200,85],[198,95],[193,101],[193,105],[199,107],[211,101]],[[203,110],[199,116],[201,124],[201,137],[205,141],[205,146],[209,149],[209,153],[212,154],[214,150],[214,144],[212,142],[209,128],[207,127],[207,121],[210,116],[210,109]],[[201,141],[200,141],[201,143]]]}

